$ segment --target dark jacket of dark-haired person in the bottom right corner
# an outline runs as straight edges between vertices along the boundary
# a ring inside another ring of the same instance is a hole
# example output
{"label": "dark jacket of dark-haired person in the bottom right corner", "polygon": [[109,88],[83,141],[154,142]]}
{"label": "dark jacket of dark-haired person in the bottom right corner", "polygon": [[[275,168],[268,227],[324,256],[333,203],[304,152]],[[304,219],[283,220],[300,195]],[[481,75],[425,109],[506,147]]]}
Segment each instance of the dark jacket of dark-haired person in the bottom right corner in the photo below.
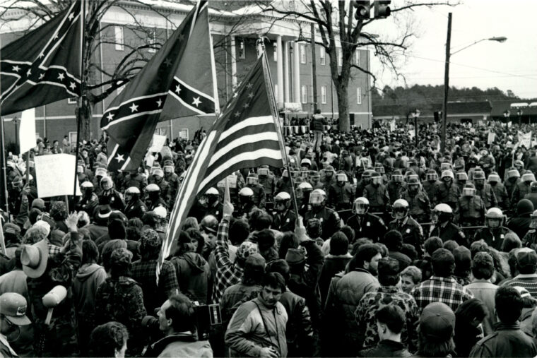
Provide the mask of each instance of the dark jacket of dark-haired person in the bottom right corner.
{"label": "dark jacket of dark-haired person in the bottom right corner", "polygon": [[535,357],[537,346],[531,335],[520,330],[519,323],[500,323],[495,333],[476,343],[470,357]]}

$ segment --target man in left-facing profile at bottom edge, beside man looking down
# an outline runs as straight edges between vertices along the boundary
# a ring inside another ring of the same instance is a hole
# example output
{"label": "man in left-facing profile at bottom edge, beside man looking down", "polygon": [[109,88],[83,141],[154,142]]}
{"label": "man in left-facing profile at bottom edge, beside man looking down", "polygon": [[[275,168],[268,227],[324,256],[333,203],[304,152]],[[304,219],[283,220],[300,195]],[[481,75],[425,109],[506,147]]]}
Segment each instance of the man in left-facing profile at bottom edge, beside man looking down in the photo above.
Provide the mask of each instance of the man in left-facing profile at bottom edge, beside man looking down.
{"label": "man in left-facing profile at bottom edge, beside man looking down", "polygon": [[194,304],[184,294],[164,302],[158,323],[165,338],[150,345],[144,357],[213,357],[208,340],[198,340]]}

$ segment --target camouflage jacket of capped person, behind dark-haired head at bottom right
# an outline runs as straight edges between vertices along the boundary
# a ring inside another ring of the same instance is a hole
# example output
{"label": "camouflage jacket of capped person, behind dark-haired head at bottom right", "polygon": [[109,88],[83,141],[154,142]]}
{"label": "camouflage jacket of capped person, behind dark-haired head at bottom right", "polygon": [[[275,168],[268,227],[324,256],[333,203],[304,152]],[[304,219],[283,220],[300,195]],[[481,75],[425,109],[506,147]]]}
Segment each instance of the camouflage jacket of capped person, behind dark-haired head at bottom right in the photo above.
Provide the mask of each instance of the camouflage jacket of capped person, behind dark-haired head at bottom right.
{"label": "camouflage jacket of capped person, behind dark-haired head at bottom right", "polygon": [[420,318],[418,305],[410,294],[401,292],[395,286],[381,286],[377,290],[367,292],[360,299],[355,316],[360,335],[364,337],[362,348],[373,347],[379,342],[375,314],[379,309],[389,304],[399,306],[403,310],[406,321],[403,330],[401,330],[401,342],[409,347],[409,350],[414,351],[418,348],[416,330]]}

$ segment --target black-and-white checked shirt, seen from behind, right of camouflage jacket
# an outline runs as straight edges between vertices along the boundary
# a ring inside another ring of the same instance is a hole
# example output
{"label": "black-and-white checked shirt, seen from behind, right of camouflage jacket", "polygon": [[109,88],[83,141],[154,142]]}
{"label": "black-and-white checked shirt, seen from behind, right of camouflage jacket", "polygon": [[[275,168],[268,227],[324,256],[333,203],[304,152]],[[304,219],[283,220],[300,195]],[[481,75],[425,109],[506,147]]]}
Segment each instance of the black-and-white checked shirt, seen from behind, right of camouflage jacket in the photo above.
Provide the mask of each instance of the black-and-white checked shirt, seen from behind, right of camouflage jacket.
{"label": "black-and-white checked shirt, seen from behind, right of camouflage jacket", "polygon": [[434,275],[429,280],[416,285],[411,294],[420,311],[432,302],[443,302],[453,311],[456,311],[460,304],[473,298],[473,294],[462,287],[459,282],[456,282],[454,278],[440,278]]}

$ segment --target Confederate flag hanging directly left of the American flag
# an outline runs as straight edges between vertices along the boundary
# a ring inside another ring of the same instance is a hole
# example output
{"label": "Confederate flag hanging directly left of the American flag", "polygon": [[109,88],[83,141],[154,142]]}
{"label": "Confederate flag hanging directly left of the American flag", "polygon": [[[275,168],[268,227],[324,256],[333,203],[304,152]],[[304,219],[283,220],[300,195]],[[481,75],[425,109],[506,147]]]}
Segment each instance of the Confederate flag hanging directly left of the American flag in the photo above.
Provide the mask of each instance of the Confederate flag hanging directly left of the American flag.
{"label": "Confederate flag hanging directly left of the American flag", "polygon": [[108,169],[136,169],[158,122],[216,113],[215,78],[208,3],[202,0],[103,114]]}

